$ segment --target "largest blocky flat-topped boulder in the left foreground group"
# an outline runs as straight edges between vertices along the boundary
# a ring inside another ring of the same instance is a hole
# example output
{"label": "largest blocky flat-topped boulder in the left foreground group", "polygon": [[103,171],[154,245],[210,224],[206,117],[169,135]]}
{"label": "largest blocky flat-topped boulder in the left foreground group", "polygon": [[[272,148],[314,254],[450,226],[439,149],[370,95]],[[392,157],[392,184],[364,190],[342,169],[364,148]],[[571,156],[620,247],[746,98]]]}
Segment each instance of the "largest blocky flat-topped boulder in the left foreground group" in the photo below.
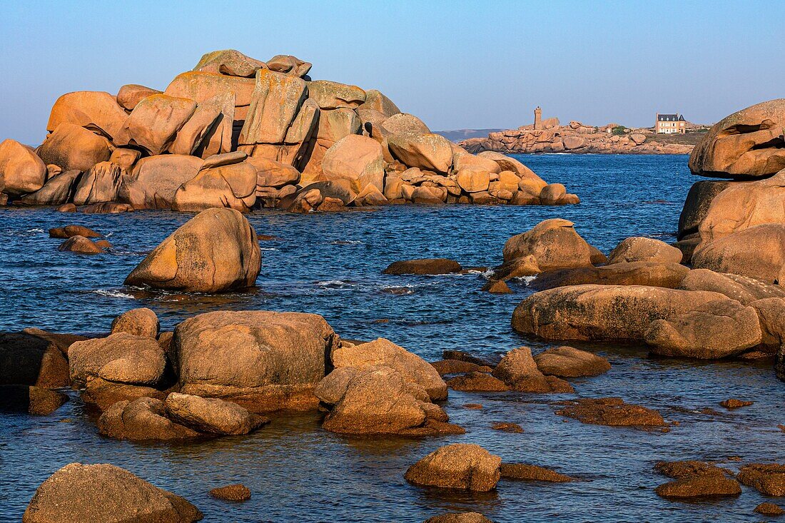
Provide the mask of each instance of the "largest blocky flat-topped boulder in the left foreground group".
{"label": "largest blocky flat-topped boulder in the left foreground group", "polygon": [[177,325],[172,350],[182,393],[254,412],[304,410],[319,402],[313,390],[337,341],[316,314],[221,311]]}

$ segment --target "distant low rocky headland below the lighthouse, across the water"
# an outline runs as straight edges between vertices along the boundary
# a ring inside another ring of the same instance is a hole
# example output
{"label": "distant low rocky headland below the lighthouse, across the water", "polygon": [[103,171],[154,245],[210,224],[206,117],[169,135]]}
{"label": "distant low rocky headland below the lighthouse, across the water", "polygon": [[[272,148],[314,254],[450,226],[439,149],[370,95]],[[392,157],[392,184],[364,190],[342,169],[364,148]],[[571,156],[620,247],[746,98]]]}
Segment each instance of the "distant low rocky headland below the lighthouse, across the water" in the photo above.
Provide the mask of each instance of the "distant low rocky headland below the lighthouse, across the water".
{"label": "distant low rocky headland below the lighthouse, across the water", "polygon": [[575,121],[562,126],[557,118],[542,120],[542,129],[535,129],[533,125],[520,126],[495,131],[484,138],[469,138],[458,145],[475,154],[493,151],[507,154],[683,155],[692,152],[692,145],[668,143],[667,137],[657,136],[648,129],[628,129],[615,123],[594,127]]}

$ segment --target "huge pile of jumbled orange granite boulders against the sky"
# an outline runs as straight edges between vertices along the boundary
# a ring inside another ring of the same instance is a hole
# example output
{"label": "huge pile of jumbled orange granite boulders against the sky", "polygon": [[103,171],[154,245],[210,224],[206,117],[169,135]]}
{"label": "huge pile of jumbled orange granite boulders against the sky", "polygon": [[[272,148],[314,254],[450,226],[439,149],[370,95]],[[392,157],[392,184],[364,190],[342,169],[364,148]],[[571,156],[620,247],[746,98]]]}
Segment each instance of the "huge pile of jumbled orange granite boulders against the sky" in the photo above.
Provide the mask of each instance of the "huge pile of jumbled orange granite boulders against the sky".
{"label": "huge pile of jumbled orange granite boulders against the sky", "polygon": [[[311,64],[207,53],[159,91],[57,99],[46,140],[0,144],[0,204],[73,211],[305,212],[388,203],[578,203],[504,155],[473,155],[378,90]],[[550,187],[550,186],[548,186]]]}

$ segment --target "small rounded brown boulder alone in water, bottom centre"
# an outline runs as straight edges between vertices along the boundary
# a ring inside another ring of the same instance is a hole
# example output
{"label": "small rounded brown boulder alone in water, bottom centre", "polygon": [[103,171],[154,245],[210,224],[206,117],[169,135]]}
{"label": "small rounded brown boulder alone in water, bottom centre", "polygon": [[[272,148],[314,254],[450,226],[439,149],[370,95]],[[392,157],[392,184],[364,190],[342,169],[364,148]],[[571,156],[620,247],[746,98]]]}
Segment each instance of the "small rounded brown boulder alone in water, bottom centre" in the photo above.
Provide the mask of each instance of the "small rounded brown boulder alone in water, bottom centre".
{"label": "small rounded brown boulder alone in water, bottom centre", "polygon": [[502,459],[476,444],[440,447],[409,467],[403,477],[421,487],[487,492],[496,487]]}

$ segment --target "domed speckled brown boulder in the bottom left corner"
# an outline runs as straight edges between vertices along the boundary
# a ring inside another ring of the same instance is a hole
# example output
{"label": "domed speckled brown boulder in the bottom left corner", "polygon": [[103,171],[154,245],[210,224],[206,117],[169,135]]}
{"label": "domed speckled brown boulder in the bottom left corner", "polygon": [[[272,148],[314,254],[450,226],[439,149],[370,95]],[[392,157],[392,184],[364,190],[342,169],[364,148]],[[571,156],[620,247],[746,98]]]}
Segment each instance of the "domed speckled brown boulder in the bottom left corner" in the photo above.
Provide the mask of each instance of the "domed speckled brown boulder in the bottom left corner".
{"label": "domed speckled brown boulder in the bottom left corner", "polygon": [[35,491],[24,523],[120,521],[192,523],[202,513],[180,496],[112,465],[64,466]]}

